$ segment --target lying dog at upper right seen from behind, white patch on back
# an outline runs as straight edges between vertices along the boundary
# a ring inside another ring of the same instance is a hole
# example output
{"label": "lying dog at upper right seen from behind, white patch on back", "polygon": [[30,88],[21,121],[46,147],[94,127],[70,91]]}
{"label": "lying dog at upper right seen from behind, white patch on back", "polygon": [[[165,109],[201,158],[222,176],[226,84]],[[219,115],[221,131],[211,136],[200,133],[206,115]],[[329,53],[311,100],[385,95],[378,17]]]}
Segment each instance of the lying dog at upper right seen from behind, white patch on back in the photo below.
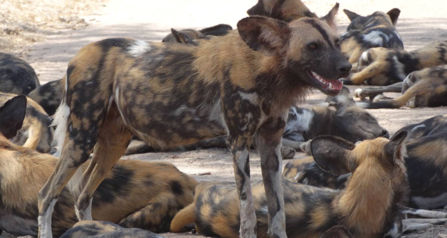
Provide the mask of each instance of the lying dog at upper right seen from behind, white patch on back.
{"label": "lying dog at upper right seen from behind, white patch on back", "polygon": [[399,9],[393,8],[388,13],[375,12],[366,17],[346,9],[343,11],[351,23],[341,36],[341,48],[350,63],[358,62],[360,55],[370,48],[404,49],[401,36],[396,31],[397,18],[401,13]]}

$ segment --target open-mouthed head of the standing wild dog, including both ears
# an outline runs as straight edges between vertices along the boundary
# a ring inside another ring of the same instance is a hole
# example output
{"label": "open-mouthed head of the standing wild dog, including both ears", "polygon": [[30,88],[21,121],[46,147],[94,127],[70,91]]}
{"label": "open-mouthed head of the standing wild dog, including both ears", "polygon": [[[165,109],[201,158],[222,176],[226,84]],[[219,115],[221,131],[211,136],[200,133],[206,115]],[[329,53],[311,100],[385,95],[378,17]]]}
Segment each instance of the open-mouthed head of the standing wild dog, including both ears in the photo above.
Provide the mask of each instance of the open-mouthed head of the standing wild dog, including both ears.
{"label": "open-mouthed head of the standing wild dog, including both ears", "polygon": [[246,17],[237,23],[244,42],[266,56],[275,57],[278,75],[313,86],[328,95],[342,89],[338,79],[349,75],[351,64],[340,52],[334,17],[338,4],[324,17],[290,23],[266,17]]}

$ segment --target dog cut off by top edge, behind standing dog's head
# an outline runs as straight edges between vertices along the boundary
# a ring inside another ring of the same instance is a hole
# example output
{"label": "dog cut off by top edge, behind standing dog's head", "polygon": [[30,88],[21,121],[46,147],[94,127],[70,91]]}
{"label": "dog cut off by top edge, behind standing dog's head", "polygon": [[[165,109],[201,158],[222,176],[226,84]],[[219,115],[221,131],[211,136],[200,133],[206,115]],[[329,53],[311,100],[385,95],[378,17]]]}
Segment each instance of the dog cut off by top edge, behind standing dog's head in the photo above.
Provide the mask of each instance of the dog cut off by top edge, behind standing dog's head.
{"label": "dog cut off by top edge, behind standing dog's head", "polygon": [[247,14],[266,16],[282,21],[294,21],[303,17],[317,18],[301,0],[258,0]]}

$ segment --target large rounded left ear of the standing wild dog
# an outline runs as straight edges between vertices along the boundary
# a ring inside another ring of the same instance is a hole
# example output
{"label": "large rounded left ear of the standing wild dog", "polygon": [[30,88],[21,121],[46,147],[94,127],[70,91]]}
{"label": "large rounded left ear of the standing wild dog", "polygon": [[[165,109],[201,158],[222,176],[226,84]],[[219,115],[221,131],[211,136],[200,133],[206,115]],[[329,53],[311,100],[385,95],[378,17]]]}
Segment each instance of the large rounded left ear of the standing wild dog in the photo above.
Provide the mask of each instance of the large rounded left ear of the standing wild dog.
{"label": "large rounded left ear of the standing wild dog", "polygon": [[237,30],[247,46],[267,56],[283,54],[290,38],[287,22],[270,17],[245,17]]}

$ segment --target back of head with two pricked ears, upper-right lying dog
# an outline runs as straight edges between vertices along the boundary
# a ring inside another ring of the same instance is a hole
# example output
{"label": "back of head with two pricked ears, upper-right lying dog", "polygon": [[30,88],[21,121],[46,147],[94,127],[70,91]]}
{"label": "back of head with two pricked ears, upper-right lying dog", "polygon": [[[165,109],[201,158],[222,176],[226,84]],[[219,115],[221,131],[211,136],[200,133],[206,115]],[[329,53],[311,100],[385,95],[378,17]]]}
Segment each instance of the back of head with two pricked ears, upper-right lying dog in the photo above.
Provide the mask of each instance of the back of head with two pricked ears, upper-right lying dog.
{"label": "back of head with two pricked ears, upper-right lying dog", "polygon": [[393,8],[384,12],[375,12],[366,17],[360,16],[357,13],[351,12],[350,10],[344,9],[343,12],[346,13],[351,23],[348,25],[348,31],[350,30],[362,30],[367,25],[392,25],[396,26],[397,18],[401,14],[401,10],[398,8]]}

